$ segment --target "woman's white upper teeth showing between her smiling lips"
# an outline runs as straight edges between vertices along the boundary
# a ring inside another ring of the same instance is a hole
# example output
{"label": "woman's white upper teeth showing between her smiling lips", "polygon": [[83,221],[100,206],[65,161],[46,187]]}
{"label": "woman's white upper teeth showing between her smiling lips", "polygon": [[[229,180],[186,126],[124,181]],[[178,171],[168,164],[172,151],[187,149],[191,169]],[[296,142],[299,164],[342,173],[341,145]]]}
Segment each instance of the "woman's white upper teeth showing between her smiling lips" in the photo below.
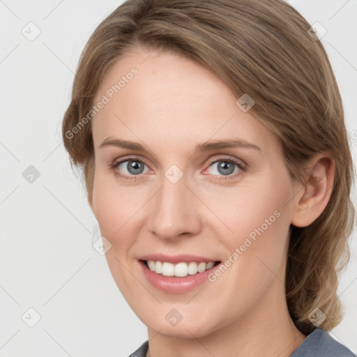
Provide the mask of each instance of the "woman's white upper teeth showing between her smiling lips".
{"label": "woman's white upper teeth showing between her smiling lips", "polygon": [[183,262],[179,264],[172,264],[167,261],[162,262],[148,260],[147,264],[149,269],[157,274],[185,278],[187,275],[194,275],[197,273],[202,273],[207,269],[211,269],[215,265],[215,262],[210,261],[206,264],[204,261],[201,261],[199,264],[197,264],[195,261],[191,261],[188,264]]}

